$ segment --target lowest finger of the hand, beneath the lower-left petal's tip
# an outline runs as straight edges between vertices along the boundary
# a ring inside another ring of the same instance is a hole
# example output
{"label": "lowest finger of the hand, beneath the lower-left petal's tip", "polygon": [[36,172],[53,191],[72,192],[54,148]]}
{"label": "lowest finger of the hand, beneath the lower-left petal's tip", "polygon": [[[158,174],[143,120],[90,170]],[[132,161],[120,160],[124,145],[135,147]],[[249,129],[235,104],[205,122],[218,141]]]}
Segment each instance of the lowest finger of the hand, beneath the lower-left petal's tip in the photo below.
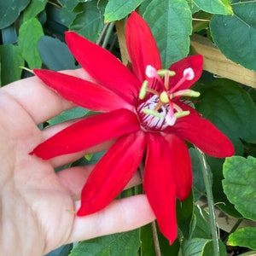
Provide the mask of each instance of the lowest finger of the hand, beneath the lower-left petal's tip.
{"label": "lowest finger of the hand, beneath the lower-left petal's tip", "polygon": [[[79,203],[77,204],[79,207]],[[83,241],[97,236],[134,230],[154,220],[146,195],[113,201],[100,212],[74,219],[69,241]]]}

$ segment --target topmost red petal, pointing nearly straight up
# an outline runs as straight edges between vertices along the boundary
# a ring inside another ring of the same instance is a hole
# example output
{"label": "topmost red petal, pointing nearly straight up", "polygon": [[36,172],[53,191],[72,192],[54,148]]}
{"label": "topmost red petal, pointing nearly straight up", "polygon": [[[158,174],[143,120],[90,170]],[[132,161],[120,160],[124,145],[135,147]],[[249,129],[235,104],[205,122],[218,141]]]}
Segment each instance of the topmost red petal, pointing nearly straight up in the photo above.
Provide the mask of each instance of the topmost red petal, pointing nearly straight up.
{"label": "topmost red petal, pointing nearly straight up", "polygon": [[148,24],[136,12],[132,12],[127,20],[125,38],[133,72],[143,82],[146,79],[146,67],[151,65],[158,70],[161,68],[161,60]]}

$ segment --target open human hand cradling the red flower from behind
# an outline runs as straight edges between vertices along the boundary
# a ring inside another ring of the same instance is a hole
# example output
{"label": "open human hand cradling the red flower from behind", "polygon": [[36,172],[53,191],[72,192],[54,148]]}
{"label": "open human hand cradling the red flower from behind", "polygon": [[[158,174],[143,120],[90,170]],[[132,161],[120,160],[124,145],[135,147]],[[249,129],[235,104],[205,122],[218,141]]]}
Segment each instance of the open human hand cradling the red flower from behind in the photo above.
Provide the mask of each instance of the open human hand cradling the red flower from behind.
{"label": "open human hand cradling the red flower from behind", "polygon": [[[87,76],[82,70],[67,73]],[[132,230],[154,219],[145,195],[113,201],[101,212],[82,218],[74,213],[93,166],[57,173],[54,168],[106,149],[111,142],[48,161],[28,154],[67,126],[40,131],[38,124],[73,107],[35,77],[0,89],[0,247],[4,255],[42,255],[62,244]],[[140,182],[136,174],[128,187]]]}

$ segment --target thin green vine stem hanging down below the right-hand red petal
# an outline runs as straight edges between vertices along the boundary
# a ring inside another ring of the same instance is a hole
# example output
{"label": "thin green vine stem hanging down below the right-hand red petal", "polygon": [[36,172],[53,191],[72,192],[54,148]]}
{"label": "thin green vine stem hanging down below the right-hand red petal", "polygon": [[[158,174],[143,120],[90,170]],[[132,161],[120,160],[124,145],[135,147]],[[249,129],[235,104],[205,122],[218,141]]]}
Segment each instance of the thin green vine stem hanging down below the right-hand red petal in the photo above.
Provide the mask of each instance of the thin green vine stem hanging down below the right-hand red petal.
{"label": "thin green vine stem hanging down below the right-hand red petal", "polygon": [[207,202],[209,207],[209,218],[210,218],[210,227],[212,233],[212,243],[213,243],[213,255],[219,256],[219,246],[218,246],[218,228],[214,212],[214,201],[212,195],[212,183],[211,183],[211,171],[207,166],[207,160],[205,154],[199,149],[196,148],[197,154],[199,156],[201,171],[204,179],[204,183],[207,190]]}

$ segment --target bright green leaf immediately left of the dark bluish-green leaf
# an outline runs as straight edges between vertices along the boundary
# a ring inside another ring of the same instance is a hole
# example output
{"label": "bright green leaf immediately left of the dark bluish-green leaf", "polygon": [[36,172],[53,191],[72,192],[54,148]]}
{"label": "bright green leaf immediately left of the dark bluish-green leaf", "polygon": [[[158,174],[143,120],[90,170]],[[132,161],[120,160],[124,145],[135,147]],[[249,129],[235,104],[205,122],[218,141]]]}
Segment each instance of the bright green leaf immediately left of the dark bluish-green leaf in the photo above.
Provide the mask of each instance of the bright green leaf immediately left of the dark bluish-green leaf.
{"label": "bright green leaf immediately left of the dark bluish-green leaf", "polygon": [[42,36],[44,36],[43,28],[41,23],[35,18],[27,20],[20,26],[19,46],[21,55],[31,69],[42,66],[38,52],[38,40]]}

